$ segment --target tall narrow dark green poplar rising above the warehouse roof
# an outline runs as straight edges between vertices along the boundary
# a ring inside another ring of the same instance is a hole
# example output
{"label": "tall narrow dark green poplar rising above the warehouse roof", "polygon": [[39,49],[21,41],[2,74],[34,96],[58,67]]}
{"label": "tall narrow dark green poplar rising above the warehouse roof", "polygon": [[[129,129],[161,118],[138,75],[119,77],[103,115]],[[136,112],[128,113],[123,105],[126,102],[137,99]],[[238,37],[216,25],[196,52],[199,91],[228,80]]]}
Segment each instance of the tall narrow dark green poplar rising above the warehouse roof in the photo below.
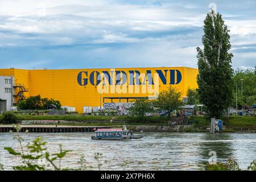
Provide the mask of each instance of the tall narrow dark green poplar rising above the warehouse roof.
{"label": "tall narrow dark green poplar rising above the warehouse roof", "polygon": [[210,117],[220,117],[232,102],[232,57],[229,30],[221,14],[214,11],[204,20],[204,48],[197,47],[200,102]]}

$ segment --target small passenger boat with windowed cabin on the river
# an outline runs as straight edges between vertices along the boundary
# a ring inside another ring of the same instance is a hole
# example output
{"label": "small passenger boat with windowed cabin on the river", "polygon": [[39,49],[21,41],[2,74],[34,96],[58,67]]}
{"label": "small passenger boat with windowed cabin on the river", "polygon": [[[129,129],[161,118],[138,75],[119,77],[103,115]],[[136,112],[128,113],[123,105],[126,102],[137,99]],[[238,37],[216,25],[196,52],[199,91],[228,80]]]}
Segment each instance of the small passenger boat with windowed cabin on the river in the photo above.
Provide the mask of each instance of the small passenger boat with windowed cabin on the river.
{"label": "small passenger boat with windowed cabin on the river", "polygon": [[143,136],[134,136],[132,130],[124,129],[97,129],[96,136],[92,136],[93,140],[127,140],[127,139],[140,139]]}

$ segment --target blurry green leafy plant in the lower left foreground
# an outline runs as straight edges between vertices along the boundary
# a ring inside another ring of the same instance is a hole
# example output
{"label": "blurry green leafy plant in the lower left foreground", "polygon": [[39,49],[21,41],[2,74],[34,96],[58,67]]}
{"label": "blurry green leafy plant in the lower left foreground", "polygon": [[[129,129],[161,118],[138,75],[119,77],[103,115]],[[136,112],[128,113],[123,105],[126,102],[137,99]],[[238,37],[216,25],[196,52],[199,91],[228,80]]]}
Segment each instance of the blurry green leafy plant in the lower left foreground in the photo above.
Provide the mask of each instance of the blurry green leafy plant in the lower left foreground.
{"label": "blurry green leafy plant in the lower left foreground", "polygon": [[[60,144],[59,152],[51,154],[46,147],[47,142],[44,141],[42,137],[38,137],[32,140],[32,143],[28,143],[26,145],[23,144],[24,139],[20,137],[19,131],[21,127],[19,125],[15,125],[16,136],[14,139],[19,142],[19,150],[14,150],[13,147],[4,147],[5,150],[9,152],[9,154],[17,156],[20,158],[21,164],[18,166],[14,166],[13,169],[15,171],[45,171],[45,170],[77,170],[77,171],[85,171],[88,168],[92,169],[92,166],[86,166],[88,163],[85,160],[85,156],[81,155],[79,160],[80,166],[78,168],[62,168],[61,161],[63,158],[71,152],[71,150],[63,150],[62,145]],[[28,131],[26,131],[27,133]],[[102,166],[102,154],[96,152],[94,154],[94,160],[97,162],[98,170],[101,170]],[[107,163],[105,160],[104,163]],[[3,165],[0,163],[0,171],[3,170]]]}

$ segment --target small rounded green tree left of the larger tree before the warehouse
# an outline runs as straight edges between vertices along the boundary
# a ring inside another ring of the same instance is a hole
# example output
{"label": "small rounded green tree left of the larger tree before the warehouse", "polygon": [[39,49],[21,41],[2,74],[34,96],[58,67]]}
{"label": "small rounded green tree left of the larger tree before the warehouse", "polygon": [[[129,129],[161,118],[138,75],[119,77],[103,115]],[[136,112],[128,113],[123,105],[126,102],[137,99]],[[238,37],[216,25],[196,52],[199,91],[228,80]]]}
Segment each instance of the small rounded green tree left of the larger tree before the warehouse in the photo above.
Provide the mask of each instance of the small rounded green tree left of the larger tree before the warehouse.
{"label": "small rounded green tree left of the larger tree before the warehouse", "polygon": [[147,113],[154,112],[152,102],[148,98],[138,98],[133,106],[129,108],[129,114],[135,117],[143,118]]}

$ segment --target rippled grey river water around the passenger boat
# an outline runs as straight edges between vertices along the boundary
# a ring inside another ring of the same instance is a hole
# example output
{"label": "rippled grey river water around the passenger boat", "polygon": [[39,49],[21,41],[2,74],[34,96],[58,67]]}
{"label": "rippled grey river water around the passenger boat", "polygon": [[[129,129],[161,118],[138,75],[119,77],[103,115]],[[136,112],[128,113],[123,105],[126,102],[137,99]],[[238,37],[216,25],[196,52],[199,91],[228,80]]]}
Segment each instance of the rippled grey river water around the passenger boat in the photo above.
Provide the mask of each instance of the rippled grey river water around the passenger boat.
{"label": "rippled grey river water around the passenger boat", "polygon": [[[0,133],[0,163],[5,169],[19,164],[3,147],[19,150],[15,133]],[[240,167],[246,167],[256,159],[256,133],[143,133],[142,139],[92,140],[93,133],[20,133],[24,144],[42,136],[48,150],[56,152],[59,144],[64,150],[72,150],[62,162],[63,167],[79,167],[79,159],[85,155],[87,166],[97,169],[94,153],[102,153],[102,170],[200,170],[200,164],[208,163],[209,152],[216,152],[219,162],[227,162],[229,156],[237,159]],[[127,165],[121,167],[127,161]]]}

